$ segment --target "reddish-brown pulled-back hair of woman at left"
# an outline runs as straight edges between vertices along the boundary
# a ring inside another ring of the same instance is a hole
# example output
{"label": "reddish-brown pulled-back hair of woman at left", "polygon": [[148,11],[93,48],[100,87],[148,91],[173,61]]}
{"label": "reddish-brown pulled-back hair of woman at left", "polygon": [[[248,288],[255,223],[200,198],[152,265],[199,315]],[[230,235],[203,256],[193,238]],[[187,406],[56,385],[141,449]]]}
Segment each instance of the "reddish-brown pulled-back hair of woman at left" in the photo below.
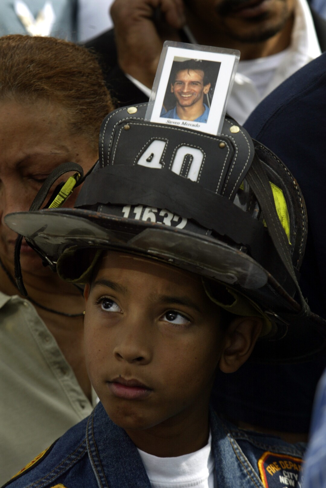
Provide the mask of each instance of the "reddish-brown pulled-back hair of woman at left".
{"label": "reddish-brown pulled-back hair of woman at left", "polygon": [[48,101],[64,110],[69,130],[97,147],[99,128],[114,109],[95,55],[51,37],[0,38],[0,100]]}

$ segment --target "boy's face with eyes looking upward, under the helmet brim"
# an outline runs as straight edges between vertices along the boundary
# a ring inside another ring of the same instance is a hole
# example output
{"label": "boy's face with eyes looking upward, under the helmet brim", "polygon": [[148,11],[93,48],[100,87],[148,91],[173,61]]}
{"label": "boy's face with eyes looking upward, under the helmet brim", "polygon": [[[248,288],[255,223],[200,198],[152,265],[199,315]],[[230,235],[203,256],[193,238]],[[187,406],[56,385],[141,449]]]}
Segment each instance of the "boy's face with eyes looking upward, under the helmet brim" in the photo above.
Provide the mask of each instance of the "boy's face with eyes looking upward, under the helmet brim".
{"label": "boy's face with eyes looking upward, under the helmet brim", "polygon": [[87,369],[117,425],[207,415],[224,334],[200,277],[110,251],[85,297]]}

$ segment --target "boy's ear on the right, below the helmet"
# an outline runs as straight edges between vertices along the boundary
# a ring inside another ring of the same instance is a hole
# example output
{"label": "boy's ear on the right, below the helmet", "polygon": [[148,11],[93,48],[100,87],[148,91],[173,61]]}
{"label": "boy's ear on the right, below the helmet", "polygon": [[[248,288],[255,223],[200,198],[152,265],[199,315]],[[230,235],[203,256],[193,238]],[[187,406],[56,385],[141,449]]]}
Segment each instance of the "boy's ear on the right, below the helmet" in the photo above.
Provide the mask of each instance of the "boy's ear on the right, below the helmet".
{"label": "boy's ear on the right, below the helmet", "polygon": [[219,361],[221,371],[233,373],[249,358],[262,330],[259,317],[237,317],[230,323]]}

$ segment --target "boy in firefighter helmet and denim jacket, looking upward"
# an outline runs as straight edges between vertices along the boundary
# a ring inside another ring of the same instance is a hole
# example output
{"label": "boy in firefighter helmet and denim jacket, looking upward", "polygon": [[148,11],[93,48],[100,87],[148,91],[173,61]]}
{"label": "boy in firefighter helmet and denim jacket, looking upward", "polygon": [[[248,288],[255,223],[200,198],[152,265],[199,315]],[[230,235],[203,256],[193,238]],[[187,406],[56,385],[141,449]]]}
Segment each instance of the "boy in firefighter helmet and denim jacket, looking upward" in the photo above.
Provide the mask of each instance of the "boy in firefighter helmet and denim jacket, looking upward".
{"label": "boy in firefighter helmet and denim jacket, looking upward", "polygon": [[300,189],[229,118],[208,136],[145,111],[103,122],[76,209],[6,218],[63,279],[85,284],[101,401],[6,486],[300,487],[302,445],[240,430],[214,405],[218,368],[325,347],[293,269],[306,239]]}

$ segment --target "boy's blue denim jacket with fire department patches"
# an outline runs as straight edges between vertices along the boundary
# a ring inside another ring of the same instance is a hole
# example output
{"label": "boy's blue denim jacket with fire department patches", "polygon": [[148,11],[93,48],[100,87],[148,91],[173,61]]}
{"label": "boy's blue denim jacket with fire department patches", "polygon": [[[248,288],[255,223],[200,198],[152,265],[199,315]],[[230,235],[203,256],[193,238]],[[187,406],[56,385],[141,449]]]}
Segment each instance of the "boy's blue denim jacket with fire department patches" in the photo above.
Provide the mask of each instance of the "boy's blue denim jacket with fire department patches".
{"label": "boy's blue denim jacket with fire department patches", "polygon": [[[211,446],[218,488],[301,488],[303,444],[240,430],[211,409]],[[99,403],[30,466],[10,488],[150,488],[137,448]],[[297,484],[299,480],[299,484]]]}

